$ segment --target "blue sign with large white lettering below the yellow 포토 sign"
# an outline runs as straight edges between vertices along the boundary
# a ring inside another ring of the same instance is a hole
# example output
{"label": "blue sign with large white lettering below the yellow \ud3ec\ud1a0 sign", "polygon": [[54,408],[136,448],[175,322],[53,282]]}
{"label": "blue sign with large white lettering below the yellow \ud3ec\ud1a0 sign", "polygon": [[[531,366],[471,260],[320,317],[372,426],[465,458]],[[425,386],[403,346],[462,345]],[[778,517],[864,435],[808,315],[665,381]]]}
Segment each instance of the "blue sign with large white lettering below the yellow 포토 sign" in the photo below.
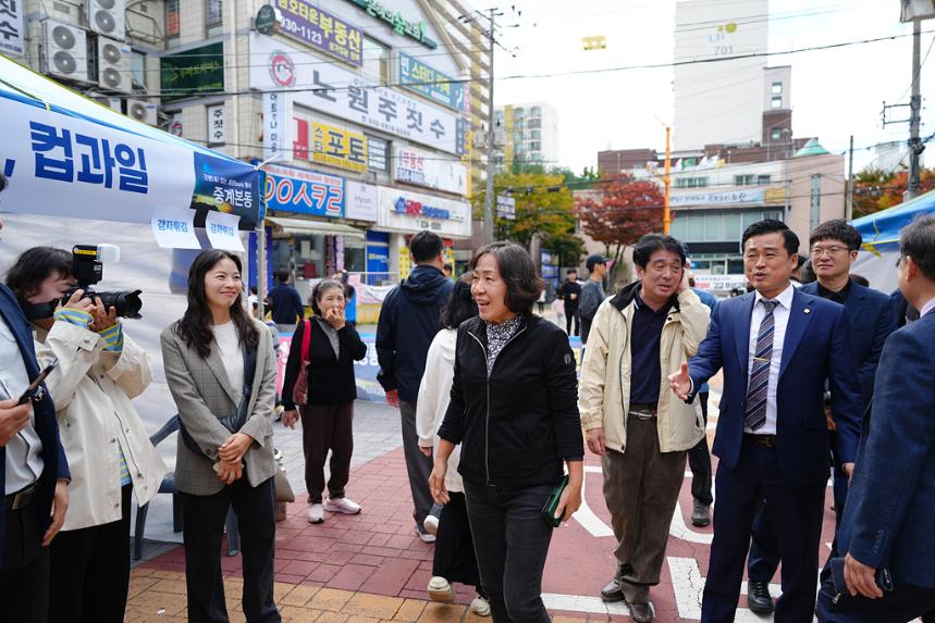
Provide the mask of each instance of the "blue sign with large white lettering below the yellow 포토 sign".
{"label": "blue sign with large white lettering below the yellow \ud3ec\ud1a0 sign", "polygon": [[316,216],[344,216],[344,178],[267,164],[267,209]]}

